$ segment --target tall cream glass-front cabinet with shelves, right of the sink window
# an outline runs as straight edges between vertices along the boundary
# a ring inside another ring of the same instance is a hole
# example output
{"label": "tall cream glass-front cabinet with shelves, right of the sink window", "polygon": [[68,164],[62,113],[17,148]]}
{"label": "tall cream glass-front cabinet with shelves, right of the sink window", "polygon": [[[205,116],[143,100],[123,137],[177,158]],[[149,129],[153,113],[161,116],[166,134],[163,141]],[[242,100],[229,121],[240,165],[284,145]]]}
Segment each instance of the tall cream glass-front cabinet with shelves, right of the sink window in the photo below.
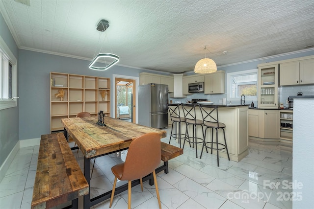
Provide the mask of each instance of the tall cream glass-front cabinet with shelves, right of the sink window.
{"label": "tall cream glass-front cabinet with shelves, right of the sink window", "polygon": [[278,108],[278,64],[259,65],[259,108]]}

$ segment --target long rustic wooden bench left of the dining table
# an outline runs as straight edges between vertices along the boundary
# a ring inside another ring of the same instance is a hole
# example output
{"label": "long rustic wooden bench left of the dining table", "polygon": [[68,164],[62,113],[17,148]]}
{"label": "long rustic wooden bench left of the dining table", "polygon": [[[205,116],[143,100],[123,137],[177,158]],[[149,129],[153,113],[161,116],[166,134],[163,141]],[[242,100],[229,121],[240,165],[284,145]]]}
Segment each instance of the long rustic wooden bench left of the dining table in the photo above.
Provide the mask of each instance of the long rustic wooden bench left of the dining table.
{"label": "long rustic wooden bench left of the dining table", "polygon": [[78,208],[78,197],[88,192],[88,183],[63,133],[42,135],[31,208],[52,208],[68,201]]}

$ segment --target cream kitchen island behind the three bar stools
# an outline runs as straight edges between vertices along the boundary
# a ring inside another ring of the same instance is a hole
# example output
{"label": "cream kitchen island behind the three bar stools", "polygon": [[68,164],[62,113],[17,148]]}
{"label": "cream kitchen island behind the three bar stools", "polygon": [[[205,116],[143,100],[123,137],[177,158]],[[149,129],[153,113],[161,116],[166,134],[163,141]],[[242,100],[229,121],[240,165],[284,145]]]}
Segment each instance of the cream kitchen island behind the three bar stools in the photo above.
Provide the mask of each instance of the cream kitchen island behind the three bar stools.
{"label": "cream kitchen island behind the three bar stools", "polygon": [[[226,141],[230,160],[239,162],[248,155],[248,105],[218,105],[219,122],[225,123]],[[198,119],[202,119],[200,109],[196,109]],[[204,129],[205,130],[205,129]],[[189,133],[192,133],[192,126],[189,126]],[[182,133],[185,132],[185,125],[182,124]],[[191,134],[190,134],[191,135]],[[197,127],[197,136],[202,136],[201,126]],[[210,130],[206,135],[206,141],[210,141]],[[215,140],[215,136],[214,136]],[[223,142],[223,132],[218,131],[218,142]],[[182,141],[183,142],[183,141]],[[223,142],[224,143],[224,142]],[[185,143],[188,146],[188,143]],[[202,146],[198,145],[201,151]],[[204,150],[206,152],[206,150]],[[213,150],[216,155],[216,151]],[[200,154],[200,153],[199,153]],[[203,153],[204,154],[204,153]],[[226,150],[219,150],[219,156],[228,159]]]}

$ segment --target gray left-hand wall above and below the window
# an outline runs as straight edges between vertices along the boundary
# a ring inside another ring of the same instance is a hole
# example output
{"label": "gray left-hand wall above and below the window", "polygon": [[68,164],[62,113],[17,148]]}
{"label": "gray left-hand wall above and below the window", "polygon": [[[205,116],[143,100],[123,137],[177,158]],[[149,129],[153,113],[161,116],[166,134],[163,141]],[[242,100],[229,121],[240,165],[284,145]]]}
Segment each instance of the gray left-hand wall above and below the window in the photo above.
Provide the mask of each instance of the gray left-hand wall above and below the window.
{"label": "gray left-hand wall above and below the window", "polygon": [[[18,59],[18,47],[0,13],[0,36]],[[19,105],[19,102],[18,102]],[[0,110],[0,166],[19,141],[19,108]]]}

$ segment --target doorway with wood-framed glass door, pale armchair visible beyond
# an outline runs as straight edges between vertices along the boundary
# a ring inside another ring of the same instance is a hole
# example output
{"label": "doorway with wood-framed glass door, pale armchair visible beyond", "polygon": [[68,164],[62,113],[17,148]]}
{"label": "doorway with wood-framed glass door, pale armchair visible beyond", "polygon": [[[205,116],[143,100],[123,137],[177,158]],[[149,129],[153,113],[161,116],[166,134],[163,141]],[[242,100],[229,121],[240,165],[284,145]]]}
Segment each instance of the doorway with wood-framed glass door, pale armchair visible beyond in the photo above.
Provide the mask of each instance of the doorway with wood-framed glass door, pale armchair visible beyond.
{"label": "doorway with wood-framed glass door, pale armchair visible beyond", "polygon": [[136,122],[136,81],[115,78],[115,118]]}

